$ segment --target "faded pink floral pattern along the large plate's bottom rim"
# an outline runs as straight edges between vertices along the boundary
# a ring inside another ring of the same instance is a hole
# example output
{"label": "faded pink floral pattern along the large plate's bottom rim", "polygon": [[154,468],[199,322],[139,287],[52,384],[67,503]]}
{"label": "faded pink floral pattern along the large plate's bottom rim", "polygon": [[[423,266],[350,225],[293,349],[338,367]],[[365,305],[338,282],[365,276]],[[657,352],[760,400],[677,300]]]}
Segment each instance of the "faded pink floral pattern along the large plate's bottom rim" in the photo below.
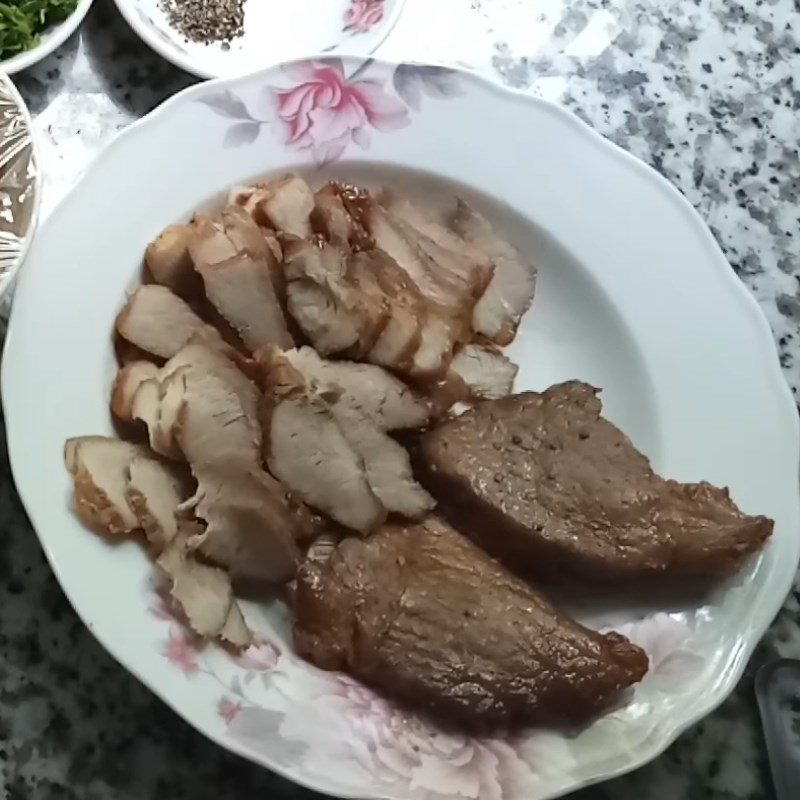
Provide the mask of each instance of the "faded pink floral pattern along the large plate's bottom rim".
{"label": "faded pink floral pattern along the large plate's bottom rim", "polygon": [[[439,730],[347,675],[284,654],[272,633],[257,632],[239,655],[200,648],[163,597],[155,599],[152,614],[168,623],[161,652],[187,678],[202,672],[219,683],[215,711],[231,739],[256,753],[280,754],[312,781],[335,778],[345,787],[357,772],[404,800],[504,800],[535,795],[542,774],[574,764],[569,743],[553,732],[516,740]],[[657,613],[613,627],[647,651],[646,681],[656,692],[704,667],[682,618]]]}

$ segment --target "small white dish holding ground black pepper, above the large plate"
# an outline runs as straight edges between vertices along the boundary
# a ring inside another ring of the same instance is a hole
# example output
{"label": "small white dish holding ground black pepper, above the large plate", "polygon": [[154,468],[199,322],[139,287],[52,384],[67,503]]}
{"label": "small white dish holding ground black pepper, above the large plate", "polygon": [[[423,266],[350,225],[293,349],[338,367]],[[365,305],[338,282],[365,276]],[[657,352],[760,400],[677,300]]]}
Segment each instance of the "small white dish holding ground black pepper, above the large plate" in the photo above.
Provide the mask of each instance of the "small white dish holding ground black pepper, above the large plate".
{"label": "small white dish holding ground black pepper, above the large plate", "polygon": [[115,0],[136,33],[173,64],[201,78],[245,75],[310,53],[366,57],[388,36],[405,0],[247,0],[243,36],[190,42],[163,0]]}

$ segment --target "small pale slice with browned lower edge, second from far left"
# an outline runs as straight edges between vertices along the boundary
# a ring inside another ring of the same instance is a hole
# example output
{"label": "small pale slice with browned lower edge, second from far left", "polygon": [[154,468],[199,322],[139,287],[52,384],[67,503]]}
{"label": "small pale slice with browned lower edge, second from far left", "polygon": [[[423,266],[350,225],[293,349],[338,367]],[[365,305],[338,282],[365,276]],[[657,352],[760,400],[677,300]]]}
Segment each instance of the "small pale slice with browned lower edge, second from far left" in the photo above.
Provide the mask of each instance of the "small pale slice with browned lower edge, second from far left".
{"label": "small pale slice with browned lower edge, second from far left", "polygon": [[179,507],[189,493],[187,476],[172,464],[135,456],[128,464],[125,499],[155,553],[178,535]]}

